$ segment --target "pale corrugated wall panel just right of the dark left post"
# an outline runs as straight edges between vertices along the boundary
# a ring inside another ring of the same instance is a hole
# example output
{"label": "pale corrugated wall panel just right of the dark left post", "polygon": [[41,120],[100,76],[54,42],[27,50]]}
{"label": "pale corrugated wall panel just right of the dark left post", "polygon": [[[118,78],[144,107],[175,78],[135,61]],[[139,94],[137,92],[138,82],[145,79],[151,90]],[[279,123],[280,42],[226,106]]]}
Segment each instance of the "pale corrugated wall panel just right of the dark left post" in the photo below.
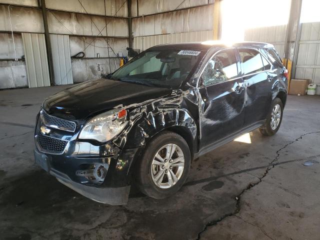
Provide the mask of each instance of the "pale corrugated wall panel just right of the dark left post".
{"label": "pale corrugated wall panel just right of the dark left post", "polygon": [[72,84],[72,68],[68,35],[50,34],[54,83],[56,85]]}

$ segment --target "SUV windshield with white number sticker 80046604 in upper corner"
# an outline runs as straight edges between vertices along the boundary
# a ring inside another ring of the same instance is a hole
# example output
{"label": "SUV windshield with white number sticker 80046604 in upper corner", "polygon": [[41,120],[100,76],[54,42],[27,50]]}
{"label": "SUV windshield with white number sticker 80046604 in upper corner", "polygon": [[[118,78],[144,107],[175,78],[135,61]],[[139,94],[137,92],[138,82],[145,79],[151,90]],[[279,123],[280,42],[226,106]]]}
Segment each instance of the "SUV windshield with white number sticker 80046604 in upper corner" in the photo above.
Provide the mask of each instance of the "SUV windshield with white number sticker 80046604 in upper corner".
{"label": "SUV windshield with white number sticker 80046604 in upper corner", "polygon": [[177,88],[188,79],[201,51],[146,50],[112,73],[111,78],[145,85]]}

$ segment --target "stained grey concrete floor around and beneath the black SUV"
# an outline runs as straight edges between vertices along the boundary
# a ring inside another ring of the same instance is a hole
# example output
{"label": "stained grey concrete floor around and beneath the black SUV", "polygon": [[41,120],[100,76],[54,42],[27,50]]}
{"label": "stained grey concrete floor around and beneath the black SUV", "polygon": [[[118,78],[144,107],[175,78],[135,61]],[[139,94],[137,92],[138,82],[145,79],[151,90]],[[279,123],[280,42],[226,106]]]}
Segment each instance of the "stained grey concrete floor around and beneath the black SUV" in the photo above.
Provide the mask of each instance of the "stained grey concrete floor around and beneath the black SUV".
{"label": "stained grey concrete floor around and beneath the black SUV", "polygon": [[0,91],[1,239],[319,239],[320,96],[288,96],[276,135],[198,158],[174,196],[110,206],[34,163],[35,115],[64,87]]}

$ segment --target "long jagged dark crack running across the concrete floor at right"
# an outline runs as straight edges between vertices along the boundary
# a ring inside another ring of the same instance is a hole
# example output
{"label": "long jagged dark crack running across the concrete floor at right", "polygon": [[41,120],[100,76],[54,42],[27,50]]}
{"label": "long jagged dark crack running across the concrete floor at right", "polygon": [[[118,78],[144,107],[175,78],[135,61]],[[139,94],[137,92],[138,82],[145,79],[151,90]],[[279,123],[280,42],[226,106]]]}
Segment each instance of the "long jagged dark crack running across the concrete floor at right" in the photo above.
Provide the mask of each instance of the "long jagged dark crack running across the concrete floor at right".
{"label": "long jagged dark crack running across the concrete floor at right", "polygon": [[[313,132],[307,132],[307,133],[304,133],[302,135],[300,135],[299,137],[295,138],[293,141],[290,141],[289,143],[285,144],[284,146],[282,146],[281,148],[279,148],[278,150],[276,150],[276,156],[269,162],[268,164],[268,167],[265,169],[263,175],[261,177],[258,177],[259,180],[256,181],[256,182],[251,182],[248,184],[248,186],[246,188],[244,188],[234,199],[236,200],[236,203],[235,203],[235,210],[233,212],[230,212],[230,213],[227,213],[227,214],[224,214],[223,216],[219,217],[218,219],[215,219],[213,221],[209,221],[207,222],[205,225],[204,225],[204,228],[202,229],[202,231],[198,232],[198,235],[197,235],[197,240],[201,238],[201,234],[203,232],[206,231],[206,229],[209,227],[209,226],[214,226],[216,225],[218,222],[224,220],[225,218],[229,217],[229,216],[236,216],[236,217],[239,217],[238,215],[236,215],[237,213],[239,213],[241,207],[240,207],[240,198],[241,198],[241,195],[251,189],[252,187],[256,186],[257,184],[259,184],[262,179],[268,174],[269,170],[271,170],[274,166],[278,165],[279,162],[276,162],[278,161],[279,157],[280,157],[280,151],[283,150],[284,148],[286,148],[288,145],[302,139],[304,136],[306,135],[309,135],[309,134],[314,134],[314,133],[320,133],[320,131],[313,131]],[[243,220],[243,219],[242,219]],[[248,223],[248,222],[247,222]],[[250,224],[250,223],[249,223]],[[261,228],[260,228],[261,229]],[[262,230],[261,230],[262,231]],[[263,231],[262,231],[263,232]],[[264,232],[263,232],[264,233]],[[268,236],[268,235],[266,235]],[[269,236],[268,236],[269,237]],[[271,237],[269,237],[270,239],[272,239]]]}

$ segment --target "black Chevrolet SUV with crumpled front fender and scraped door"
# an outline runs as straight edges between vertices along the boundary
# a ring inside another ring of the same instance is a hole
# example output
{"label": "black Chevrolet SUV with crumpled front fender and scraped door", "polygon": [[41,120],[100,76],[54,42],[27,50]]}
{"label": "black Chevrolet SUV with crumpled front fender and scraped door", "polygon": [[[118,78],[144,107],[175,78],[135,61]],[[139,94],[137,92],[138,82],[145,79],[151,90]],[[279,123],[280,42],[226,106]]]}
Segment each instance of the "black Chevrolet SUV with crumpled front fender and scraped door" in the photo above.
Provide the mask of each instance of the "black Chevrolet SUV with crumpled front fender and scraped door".
{"label": "black Chevrolet SUV with crumpled front fender and scraped door", "polygon": [[125,204],[130,185],[176,192],[192,159],[259,128],[279,128],[287,70],[261,42],[164,44],[112,74],[46,98],[35,160],[95,201]]}

